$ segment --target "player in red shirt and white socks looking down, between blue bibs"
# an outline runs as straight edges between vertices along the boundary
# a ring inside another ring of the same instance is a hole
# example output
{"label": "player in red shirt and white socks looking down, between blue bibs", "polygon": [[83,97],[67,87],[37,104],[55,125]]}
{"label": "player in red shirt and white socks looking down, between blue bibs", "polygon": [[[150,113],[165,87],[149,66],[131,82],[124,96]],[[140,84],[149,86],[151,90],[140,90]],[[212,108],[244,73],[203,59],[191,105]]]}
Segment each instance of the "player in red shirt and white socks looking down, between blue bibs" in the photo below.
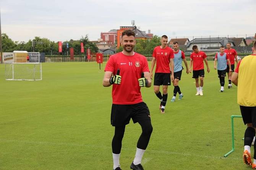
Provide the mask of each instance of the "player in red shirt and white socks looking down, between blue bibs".
{"label": "player in red shirt and white socks looking down, between blue bibs", "polygon": [[[207,67],[207,73],[210,72],[207,56],[203,51],[199,51],[198,47],[194,45],[192,47],[193,51],[190,55],[190,73],[191,73],[191,66],[193,64],[193,77],[196,80],[196,95],[203,95],[203,85],[204,85],[204,62]],[[200,78],[200,86],[199,86],[199,79]]]}

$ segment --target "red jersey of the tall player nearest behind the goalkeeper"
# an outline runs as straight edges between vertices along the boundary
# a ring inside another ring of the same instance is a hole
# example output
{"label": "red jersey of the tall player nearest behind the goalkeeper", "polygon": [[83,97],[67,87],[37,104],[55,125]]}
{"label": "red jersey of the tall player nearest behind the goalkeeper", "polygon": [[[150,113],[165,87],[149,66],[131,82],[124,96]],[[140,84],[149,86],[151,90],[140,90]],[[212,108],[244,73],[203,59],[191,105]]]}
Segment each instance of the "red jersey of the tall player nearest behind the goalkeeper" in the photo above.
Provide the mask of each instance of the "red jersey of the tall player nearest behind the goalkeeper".
{"label": "red jersey of the tall player nearest behind the goalkeeper", "polygon": [[173,50],[170,47],[161,48],[157,46],[154,48],[152,56],[156,58],[155,73],[170,73],[170,59],[174,58]]}

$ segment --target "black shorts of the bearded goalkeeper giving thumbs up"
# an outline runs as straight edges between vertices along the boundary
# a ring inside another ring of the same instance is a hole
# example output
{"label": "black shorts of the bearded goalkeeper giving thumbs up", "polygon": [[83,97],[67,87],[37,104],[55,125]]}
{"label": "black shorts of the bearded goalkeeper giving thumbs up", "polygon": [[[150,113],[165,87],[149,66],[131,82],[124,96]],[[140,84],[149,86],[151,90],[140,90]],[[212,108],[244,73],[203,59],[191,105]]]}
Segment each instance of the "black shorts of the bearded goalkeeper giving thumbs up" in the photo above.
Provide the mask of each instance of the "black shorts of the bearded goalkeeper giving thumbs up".
{"label": "black shorts of the bearded goalkeeper giving thumbs up", "polygon": [[133,119],[133,123],[141,120],[151,120],[146,103],[141,102],[132,105],[112,104],[110,118],[112,126],[123,126],[129,124],[130,119]]}

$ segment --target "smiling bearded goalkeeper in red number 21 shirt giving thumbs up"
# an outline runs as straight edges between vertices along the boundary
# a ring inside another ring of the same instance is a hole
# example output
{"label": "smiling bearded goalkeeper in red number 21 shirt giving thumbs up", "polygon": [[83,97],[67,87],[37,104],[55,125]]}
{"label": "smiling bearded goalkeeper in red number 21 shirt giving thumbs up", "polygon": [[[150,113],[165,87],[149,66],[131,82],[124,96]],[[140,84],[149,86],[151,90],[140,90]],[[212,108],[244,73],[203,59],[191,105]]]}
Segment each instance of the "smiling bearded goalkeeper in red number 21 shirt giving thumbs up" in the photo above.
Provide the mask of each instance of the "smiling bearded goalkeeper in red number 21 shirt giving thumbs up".
{"label": "smiling bearded goalkeeper in red number 21 shirt giving thumbs up", "polygon": [[133,119],[133,123],[138,122],[140,124],[142,133],[130,168],[143,170],[141,159],[153,128],[149,109],[142,100],[140,89],[151,86],[149,67],[146,57],[133,51],[135,33],[132,30],[125,30],[122,33],[121,43],[123,51],[110,57],[103,78],[104,87],[113,85],[111,110],[111,124],[115,126],[112,140],[113,169],[121,170],[119,158],[125,126],[129,124],[130,119]]}

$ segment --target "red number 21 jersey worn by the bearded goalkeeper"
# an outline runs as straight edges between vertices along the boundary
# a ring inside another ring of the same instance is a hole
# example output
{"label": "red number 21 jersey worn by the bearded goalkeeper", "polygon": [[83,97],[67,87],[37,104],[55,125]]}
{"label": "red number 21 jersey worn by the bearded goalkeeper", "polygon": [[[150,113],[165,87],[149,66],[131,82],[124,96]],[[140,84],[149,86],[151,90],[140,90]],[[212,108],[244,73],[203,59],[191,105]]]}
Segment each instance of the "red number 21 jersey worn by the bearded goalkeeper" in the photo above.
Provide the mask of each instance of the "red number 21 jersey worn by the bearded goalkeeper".
{"label": "red number 21 jersey worn by the bearded goalkeeper", "polygon": [[141,78],[141,73],[149,72],[146,57],[136,52],[133,56],[118,52],[109,58],[104,71],[111,71],[116,75],[118,69],[122,78],[121,84],[112,85],[113,104],[129,105],[143,102],[138,79]]}

